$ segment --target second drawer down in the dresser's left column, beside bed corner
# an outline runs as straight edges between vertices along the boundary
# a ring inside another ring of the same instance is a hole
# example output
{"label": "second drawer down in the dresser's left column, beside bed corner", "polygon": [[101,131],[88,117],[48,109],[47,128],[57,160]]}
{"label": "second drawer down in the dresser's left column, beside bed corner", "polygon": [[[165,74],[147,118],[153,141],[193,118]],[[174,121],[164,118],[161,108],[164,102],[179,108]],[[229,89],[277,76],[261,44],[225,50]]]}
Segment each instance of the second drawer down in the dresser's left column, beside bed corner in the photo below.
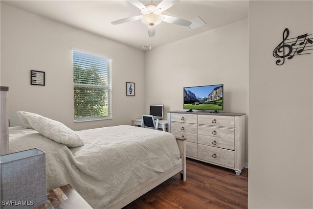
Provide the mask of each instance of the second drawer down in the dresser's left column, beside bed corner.
{"label": "second drawer down in the dresser's left column, beside bed corner", "polygon": [[173,123],[171,122],[171,134],[175,137],[184,136],[186,141],[198,142],[198,127],[197,125],[185,124],[185,123]]}

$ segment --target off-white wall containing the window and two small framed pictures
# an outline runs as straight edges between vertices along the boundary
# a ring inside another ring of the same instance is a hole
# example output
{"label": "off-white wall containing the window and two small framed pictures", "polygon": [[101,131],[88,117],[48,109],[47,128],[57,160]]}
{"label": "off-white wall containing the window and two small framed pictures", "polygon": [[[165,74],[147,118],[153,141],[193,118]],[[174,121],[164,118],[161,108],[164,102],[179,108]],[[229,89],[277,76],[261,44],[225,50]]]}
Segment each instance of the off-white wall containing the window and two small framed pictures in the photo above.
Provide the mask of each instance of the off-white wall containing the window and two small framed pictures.
{"label": "off-white wall containing the window and two small framed pictures", "polygon": [[[112,120],[74,123],[72,47],[113,59]],[[30,70],[45,71],[45,86],[30,85]],[[126,96],[127,81],[135,96]],[[9,87],[11,126],[21,125],[17,111],[74,130],[132,124],[144,112],[144,52],[1,2],[1,85]]]}

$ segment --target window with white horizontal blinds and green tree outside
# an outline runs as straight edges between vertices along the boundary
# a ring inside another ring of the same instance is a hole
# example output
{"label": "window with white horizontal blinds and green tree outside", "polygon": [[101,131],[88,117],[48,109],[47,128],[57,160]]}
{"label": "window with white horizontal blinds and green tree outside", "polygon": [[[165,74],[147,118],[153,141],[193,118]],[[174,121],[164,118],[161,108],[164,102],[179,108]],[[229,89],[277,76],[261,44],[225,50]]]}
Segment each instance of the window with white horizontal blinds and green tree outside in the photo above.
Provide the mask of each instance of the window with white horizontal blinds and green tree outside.
{"label": "window with white horizontal blinds and green tree outside", "polygon": [[73,50],[74,122],[112,118],[112,59]]}

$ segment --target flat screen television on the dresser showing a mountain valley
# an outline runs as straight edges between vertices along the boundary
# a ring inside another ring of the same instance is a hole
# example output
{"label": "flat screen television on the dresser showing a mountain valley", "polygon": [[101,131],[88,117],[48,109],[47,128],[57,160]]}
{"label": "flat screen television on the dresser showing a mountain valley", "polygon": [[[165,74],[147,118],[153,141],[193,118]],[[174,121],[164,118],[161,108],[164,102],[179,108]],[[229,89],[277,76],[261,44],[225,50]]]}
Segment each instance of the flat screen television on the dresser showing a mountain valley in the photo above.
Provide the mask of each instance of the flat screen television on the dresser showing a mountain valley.
{"label": "flat screen television on the dresser showing a mountain valley", "polygon": [[184,109],[223,110],[224,85],[184,87]]}

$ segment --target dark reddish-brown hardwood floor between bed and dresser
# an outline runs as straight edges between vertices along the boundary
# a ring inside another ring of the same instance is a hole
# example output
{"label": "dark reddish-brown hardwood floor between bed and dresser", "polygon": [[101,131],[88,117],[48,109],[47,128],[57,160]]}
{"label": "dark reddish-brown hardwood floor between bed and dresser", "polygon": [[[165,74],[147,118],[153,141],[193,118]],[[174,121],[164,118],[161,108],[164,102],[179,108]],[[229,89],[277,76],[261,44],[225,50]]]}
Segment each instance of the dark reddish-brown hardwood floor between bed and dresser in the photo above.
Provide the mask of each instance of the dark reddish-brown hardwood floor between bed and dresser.
{"label": "dark reddish-brown hardwood floor between bed and dresser", "polygon": [[248,170],[233,170],[187,159],[187,181],[179,174],[142,195],[125,209],[246,209]]}

